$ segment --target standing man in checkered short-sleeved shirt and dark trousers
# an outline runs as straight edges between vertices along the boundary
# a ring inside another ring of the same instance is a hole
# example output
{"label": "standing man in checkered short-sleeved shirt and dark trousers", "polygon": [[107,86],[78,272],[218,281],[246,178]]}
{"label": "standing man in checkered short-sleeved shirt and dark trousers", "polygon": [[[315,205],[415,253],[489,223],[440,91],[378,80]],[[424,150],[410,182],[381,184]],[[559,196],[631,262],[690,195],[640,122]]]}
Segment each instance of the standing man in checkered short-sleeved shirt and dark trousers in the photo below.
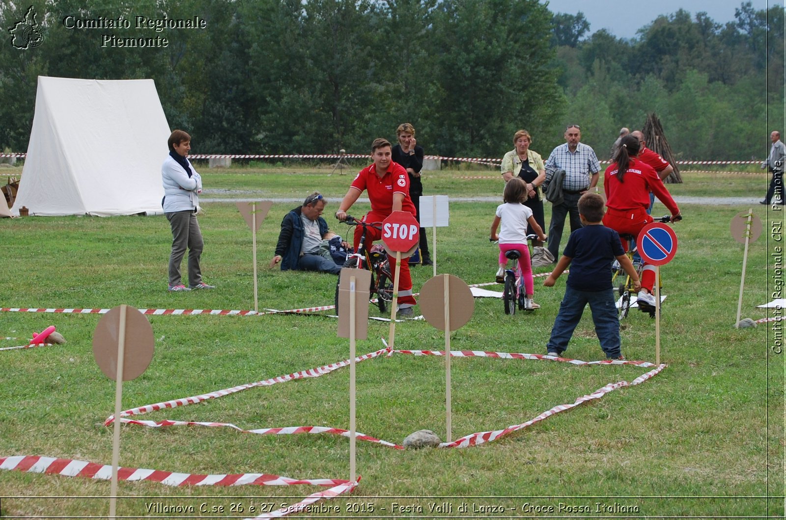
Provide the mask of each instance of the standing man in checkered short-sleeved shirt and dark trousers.
{"label": "standing man in checkered short-sleeved shirt and dark trousers", "polygon": [[579,142],[582,130],[578,125],[568,125],[565,129],[564,145],[554,148],[545,162],[545,184],[548,185],[556,170],[565,170],[562,181],[562,203],[552,203],[551,223],[549,224],[549,251],[554,258],[560,258],[560,240],[565,227],[565,217],[571,215],[571,233],[582,227],[578,217],[578,199],[582,193],[597,185],[601,164],[595,151]]}

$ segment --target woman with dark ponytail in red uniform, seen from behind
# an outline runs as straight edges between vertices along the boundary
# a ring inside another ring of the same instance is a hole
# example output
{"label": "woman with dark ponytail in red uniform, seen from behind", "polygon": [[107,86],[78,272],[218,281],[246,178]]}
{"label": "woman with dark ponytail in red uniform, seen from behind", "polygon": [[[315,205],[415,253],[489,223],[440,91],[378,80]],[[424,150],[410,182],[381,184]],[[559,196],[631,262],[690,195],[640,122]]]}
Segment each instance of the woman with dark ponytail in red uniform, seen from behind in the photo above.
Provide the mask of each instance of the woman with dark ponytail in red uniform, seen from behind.
{"label": "woman with dark ponytail in red uniform, seen from behind", "polygon": [[[638,237],[641,229],[652,222],[647,214],[649,192],[652,191],[671,212],[671,222],[679,220],[680,209],[671,198],[663,181],[652,167],[637,159],[640,143],[632,135],[623,137],[614,163],[606,168],[603,187],[606,192],[606,215],[603,224],[620,235]],[[627,247],[623,240],[623,248]],[[645,265],[641,273],[641,291],[638,294],[642,310],[655,308],[652,287],[655,286],[655,268]]]}

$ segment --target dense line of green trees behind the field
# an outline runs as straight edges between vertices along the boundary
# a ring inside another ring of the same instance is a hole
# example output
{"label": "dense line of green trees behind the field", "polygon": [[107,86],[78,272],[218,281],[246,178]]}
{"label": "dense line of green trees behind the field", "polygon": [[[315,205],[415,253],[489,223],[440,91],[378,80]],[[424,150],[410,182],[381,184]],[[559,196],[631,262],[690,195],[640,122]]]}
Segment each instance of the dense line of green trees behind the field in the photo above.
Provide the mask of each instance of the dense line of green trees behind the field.
{"label": "dense line of green trees behind the field", "polygon": [[[727,24],[681,9],[628,40],[589,35],[582,13],[535,0],[85,4],[0,5],[6,29],[32,5],[43,35],[28,49],[8,38],[0,51],[0,148],[26,150],[39,75],[152,78],[171,127],[202,153],[365,152],[409,122],[429,154],[498,157],[526,128],[548,155],[578,123],[604,159],[619,127],[655,112],[679,159],[740,160],[766,155],[770,126],[786,130],[778,5],[741,3]],[[68,28],[68,16],[132,23]],[[198,16],[206,27],[155,31],[134,16]],[[167,46],[107,47],[101,35],[163,35]]]}

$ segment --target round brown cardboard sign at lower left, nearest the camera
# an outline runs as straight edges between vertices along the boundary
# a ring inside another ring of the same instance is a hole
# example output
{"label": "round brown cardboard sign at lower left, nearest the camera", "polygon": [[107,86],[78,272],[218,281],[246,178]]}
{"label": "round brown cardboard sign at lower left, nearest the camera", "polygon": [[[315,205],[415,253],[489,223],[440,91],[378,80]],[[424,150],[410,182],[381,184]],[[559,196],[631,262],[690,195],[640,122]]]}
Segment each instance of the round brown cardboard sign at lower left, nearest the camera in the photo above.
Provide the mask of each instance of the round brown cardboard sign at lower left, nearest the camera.
{"label": "round brown cardboard sign at lower left, nearest the camera", "polygon": [[[120,309],[116,306],[98,320],[93,333],[93,356],[109,379],[117,378],[117,350],[120,339]],[[126,306],[126,342],[123,352],[123,381],[137,378],[152,360],[152,327],[138,309]]]}

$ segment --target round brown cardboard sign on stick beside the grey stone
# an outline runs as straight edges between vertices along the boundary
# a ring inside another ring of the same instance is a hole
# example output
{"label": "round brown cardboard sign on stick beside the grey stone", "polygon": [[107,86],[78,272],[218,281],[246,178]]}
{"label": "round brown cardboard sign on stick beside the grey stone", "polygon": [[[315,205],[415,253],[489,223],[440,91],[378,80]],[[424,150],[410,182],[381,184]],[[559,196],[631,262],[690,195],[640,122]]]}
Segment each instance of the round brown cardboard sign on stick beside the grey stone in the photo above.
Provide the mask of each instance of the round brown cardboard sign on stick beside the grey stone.
{"label": "round brown cardboard sign on stick beside the grey stone", "polygon": [[439,275],[428,280],[421,287],[420,302],[423,317],[440,331],[445,330],[445,278],[448,281],[448,303],[450,305],[450,330],[457,331],[467,324],[475,311],[475,298],[472,290],[458,276]]}

